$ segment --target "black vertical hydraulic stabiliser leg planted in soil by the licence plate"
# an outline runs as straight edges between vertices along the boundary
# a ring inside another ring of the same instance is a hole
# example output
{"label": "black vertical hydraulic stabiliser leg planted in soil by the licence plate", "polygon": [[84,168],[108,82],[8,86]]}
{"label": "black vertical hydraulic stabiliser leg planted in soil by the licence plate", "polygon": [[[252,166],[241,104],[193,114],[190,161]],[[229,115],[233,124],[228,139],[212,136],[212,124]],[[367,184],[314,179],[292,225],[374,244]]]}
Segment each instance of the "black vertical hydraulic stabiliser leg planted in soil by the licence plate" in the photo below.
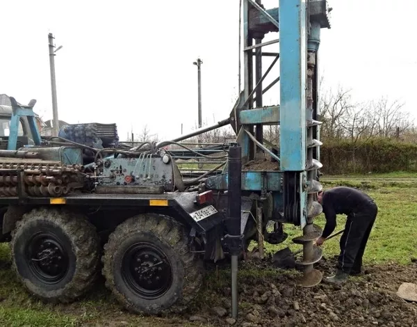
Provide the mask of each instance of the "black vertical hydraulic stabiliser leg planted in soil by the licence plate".
{"label": "black vertical hydraulic stabiliser leg planted in soil by the licence plate", "polygon": [[[229,147],[229,184],[227,189],[228,200],[228,231],[231,237],[240,237],[240,205],[242,193],[242,149],[237,143]],[[231,248],[231,316],[238,317],[238,254],[239,248]]]}

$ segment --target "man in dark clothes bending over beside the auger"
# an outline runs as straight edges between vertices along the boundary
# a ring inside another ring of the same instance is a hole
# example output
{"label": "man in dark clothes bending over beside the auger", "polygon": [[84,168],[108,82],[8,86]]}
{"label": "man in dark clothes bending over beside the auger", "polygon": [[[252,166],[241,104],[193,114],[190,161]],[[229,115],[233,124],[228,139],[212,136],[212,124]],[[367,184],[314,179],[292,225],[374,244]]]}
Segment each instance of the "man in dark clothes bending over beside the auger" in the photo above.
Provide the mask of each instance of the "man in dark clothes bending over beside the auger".
{"label": "man in dark clothes bending over beside the auger", "polygon": [[377,218],[378,208],[367,194],[350,187],[335,187],[318,193],[326,224],[322,236],[316,241],[321,246],[336,228],[336,214],[347,215],[345,231],[341,237],[341,253],[338,257],[336,275],[327,282],[342,283],[349,275],[361,273],[363,252]]}

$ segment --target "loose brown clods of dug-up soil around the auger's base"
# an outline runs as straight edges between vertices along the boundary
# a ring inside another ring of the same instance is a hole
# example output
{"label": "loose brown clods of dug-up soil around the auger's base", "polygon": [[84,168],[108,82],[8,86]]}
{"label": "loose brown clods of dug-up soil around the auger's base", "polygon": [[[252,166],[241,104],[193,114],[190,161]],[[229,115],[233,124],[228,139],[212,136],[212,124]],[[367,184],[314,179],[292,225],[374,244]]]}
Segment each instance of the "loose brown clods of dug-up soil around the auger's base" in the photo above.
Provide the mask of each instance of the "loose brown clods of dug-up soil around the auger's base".
{"label": "loose brown clods of dug-up soil around the auger's base", "polygon": [[[250,263],[252,269],[265,263]],[[317,266],[325,276],[334,272],[336,259]],[[245,263],[247,265],[247,263]],[[409,303],[395,292],[402,282],[416,282],[417,264],[371,266],[363,276],[345,285],[322,282],[311,289],[298,286],[300,273],[277,271],[268,277],[240,278],[240,312],[230,317],[230,289],[210,289],[218,306],[206,303],[193,310],[190,321],[211,326],[401,326],[417,323],[417,303]]]}

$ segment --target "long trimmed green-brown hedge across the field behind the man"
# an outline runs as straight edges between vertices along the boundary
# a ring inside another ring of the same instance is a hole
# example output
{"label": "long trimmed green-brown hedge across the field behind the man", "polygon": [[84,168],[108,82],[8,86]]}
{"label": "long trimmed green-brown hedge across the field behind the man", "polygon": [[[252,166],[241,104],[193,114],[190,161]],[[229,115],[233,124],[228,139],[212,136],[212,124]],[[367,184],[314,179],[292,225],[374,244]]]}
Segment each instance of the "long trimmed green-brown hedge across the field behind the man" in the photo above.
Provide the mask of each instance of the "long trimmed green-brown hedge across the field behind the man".
{"label": "long trimmed green-brown hedge across the field behind the man", "polygon": [[387,138],[368,141],[323,140],[320,148],[322,172],[329,175],[348,173],[417,172],[417,144]]}

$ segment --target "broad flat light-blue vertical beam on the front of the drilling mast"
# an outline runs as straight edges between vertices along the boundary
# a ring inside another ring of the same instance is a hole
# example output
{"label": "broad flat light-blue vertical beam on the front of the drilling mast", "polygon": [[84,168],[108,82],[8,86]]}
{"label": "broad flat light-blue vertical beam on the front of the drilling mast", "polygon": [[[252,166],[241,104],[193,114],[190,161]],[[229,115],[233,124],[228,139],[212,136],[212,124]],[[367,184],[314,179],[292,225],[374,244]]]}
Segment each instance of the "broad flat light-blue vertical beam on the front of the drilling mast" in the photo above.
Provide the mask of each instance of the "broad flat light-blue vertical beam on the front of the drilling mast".
{"label": "broad flat light-blue vertical beam on the front of the drilling mast", "polygon": [[306,1],[279,1],[281,170],[306,168]]}

